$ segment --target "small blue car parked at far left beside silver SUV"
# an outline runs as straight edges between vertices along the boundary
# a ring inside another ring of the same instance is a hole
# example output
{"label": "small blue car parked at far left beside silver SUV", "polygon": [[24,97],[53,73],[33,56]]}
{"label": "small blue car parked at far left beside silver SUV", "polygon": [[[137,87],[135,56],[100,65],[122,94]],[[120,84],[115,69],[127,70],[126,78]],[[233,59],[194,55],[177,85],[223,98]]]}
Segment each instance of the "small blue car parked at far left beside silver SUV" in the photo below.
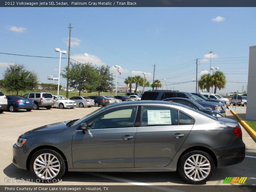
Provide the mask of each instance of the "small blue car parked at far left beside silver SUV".
{"label": "small blue car parked at far left beside silver SUV", "polygon": [[26,109],[27,111],[31,111],[34,107],[35,103],[31,99],[27,99],[23,96],[17,95],[6,95],[7,97],[7,107],[10,112],[15,112],[18,109]]}

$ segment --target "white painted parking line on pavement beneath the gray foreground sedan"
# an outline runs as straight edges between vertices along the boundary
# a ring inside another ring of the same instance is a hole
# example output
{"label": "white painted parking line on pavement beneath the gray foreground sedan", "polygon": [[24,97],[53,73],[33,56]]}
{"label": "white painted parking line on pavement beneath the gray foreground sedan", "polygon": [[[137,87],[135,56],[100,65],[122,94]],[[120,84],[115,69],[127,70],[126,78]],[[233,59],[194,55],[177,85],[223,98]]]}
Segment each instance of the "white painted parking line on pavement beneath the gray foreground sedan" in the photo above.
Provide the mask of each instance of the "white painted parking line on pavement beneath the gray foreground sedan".
{"label": "white painted parking line on pavement beneath the gray foreground sedan", "polygon": [[86,173],[86,174],[90,174],[90,175],[93,175],[93,176],[96,176],[96,177],[103,177],[103,178],[110,179],[110,180],[121,181],[121,182],[124,182],[124,183],[133,184],[133,185],[145,186],[145,187],[148,187],[148,188],[158,189],[158,190],[162,190],[162,191],[183,192],[183,191],[177,190],[177,189],[159,187],[159,186],[151,185],[151,184],[148,184],[148,183],[140,183],[140,182],[137,182],[137,181],[126,180],[126,179],[113,177],[113,176],[109,176],[109,175],[103,175],[103,174],[100,174],[100,173]]}

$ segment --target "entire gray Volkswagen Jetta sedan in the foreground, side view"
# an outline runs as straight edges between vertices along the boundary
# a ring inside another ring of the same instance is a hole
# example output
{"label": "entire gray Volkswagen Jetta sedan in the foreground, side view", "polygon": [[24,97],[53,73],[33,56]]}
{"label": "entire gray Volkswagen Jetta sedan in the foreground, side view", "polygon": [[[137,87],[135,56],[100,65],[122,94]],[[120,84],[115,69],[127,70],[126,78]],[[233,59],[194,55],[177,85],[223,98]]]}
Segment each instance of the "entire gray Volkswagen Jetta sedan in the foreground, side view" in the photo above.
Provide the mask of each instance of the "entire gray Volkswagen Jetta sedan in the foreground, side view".
{"label": "entire gray Volkswagen Jetta sedan in the foreground, side view", "polygon": [[110,104],[26,132],[13,145],[13,163],[44,182],[66,171],[177,170],[188,183],[203,184],[216,167],[244,157],[236,121],[166,101]]}

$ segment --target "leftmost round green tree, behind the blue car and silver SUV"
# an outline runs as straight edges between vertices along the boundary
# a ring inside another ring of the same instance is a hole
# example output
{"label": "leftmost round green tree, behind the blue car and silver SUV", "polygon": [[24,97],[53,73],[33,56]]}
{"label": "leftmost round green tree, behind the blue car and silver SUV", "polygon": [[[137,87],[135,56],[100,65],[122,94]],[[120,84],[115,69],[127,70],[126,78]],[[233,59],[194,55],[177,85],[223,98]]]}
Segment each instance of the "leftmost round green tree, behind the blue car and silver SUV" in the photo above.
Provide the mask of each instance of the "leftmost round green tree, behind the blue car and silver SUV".
{"label": "leftmost round green tree, behind the blue car and silver SUV", "polygon": [[32,90],[37,85],[36,73],[29,71],[24,65],[12,64],[4,71],[3,87],[7,92]]}

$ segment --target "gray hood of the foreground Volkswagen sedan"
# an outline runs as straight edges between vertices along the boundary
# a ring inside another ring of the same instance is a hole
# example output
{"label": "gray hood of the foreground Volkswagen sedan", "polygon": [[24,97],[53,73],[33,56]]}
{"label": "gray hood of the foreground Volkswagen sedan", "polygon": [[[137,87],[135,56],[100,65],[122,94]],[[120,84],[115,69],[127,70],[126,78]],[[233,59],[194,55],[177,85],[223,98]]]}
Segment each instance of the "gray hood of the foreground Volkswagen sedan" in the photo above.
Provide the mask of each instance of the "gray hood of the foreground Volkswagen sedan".
{"label": "gray hood of the foreground Volkswagen sedan", "polygon": [[68,122],[70,122],[70,121],[63,121],[63,122],[59,122],[59,123],[44,125],[42,127],[38,127],[36,129],[32,129],[28,132],[25,132],[20,137],[24,138],[24,137],[28,137],[31,135],[41,135],[41,134],[62,132],[65,129],[67,129]]}

